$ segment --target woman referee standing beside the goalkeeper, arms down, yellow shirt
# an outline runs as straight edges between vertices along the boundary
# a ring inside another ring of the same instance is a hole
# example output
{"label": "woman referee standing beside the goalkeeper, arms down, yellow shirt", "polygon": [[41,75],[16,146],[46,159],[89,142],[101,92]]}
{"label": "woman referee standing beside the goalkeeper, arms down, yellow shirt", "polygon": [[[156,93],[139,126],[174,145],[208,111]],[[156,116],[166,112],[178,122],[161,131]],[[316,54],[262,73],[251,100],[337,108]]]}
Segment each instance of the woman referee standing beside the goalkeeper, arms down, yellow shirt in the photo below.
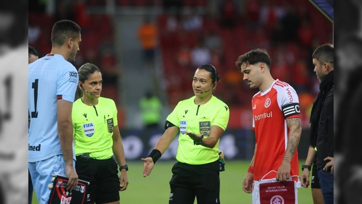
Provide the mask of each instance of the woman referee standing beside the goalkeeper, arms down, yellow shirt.
{"label": "woman referee standing beside the goalkeeper, arms down, yellow shirt", "polygon": [[[102,75],[96,65],[78,69],[79,99],[73,103],[75,169],[79,179],[90,182],[87,203],[118,204],[119,191],[128,185],[125,153],[112,99],[100,97]],[[121,175],[118,178],[117,164]]]}

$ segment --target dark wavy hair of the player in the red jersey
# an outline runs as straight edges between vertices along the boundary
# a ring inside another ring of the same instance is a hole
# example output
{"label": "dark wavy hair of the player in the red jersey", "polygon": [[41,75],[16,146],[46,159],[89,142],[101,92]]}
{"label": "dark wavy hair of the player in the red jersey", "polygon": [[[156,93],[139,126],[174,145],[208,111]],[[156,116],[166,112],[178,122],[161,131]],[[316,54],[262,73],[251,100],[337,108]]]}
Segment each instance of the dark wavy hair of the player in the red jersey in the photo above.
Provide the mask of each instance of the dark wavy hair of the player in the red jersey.
{"label": "dark wavy hair of the player in the red jersey", "polygon": [[247,66],[249,66],[257,64],[258,62],[264,62],[266,65],[268,65],[268,68],[270,68],[271,59],[265,49],[253,49],[243,55],[240,55],[239,58],[237,58],[235,65],[237,70],[241,72],[242,64],[245,63]]}

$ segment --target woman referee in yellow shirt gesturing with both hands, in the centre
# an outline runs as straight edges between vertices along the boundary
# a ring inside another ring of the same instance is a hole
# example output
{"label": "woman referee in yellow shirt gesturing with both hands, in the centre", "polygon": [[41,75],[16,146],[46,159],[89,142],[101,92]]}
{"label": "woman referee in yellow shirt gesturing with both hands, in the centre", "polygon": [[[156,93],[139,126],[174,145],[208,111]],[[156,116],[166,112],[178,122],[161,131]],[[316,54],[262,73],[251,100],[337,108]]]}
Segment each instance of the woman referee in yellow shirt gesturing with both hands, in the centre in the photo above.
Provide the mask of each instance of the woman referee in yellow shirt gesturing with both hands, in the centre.
{"label": "woman referee in yellow shirt gesturing with both hands, in the centre", "polygon": [[198,204],[220,203],[218,146],[229,121],[229,108],[212,95],[219,79],[214,66],[197,68],[192,82],[195,95],[177,104],[155,149],[142,158],[146,177],[180,131],[169,204],[193,204],[195,196]]}

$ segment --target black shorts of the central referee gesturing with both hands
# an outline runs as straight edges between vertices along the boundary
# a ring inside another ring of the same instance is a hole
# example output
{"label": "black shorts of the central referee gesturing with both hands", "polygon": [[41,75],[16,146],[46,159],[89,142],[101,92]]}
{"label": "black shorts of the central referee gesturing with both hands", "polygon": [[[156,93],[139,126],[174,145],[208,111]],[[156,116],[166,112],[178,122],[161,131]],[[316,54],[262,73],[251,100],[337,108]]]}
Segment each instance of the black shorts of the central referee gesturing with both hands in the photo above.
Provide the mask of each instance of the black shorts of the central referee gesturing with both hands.
{"label": "black shorts of the central referee gesturing with both hands", "polygon": [[172,167],[169,204],[220,204],[219,161],[191,165],[177,162]]}

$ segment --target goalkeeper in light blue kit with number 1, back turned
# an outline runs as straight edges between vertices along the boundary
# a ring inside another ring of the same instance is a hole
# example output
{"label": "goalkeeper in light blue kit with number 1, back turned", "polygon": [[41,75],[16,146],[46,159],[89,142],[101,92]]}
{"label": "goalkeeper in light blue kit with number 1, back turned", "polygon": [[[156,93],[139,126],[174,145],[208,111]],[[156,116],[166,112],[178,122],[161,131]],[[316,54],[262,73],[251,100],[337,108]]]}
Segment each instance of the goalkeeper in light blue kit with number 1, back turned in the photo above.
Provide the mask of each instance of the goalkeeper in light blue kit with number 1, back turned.
{"label": "goalkeeper in light blue kit with number 1, back turned", "polygon": [[70,20],[56,22],[51,53],[29,64],[29,172],[39,204],[47,204],[52,174],[69,178],[75,189],[72,105],[79,77],[70,63],[81,42],[80,27]]}

